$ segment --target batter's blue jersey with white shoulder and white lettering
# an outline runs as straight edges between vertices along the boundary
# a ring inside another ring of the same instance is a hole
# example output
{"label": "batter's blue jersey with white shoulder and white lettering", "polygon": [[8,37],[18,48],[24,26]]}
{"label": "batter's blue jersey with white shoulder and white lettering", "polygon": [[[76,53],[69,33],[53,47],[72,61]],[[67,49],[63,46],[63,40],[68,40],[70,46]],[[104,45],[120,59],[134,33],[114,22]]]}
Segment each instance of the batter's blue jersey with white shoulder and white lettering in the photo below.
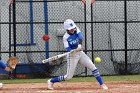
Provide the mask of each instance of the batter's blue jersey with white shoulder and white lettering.
{"label": "batter's blue jersey with white shoulder and white lettering", "polygon": [[83,40],[83,34],[78,27],[73,34],[65,33],[63,36],[63,43],[66,50],[69,52],[76,49],[79,44],[79,40]]}

